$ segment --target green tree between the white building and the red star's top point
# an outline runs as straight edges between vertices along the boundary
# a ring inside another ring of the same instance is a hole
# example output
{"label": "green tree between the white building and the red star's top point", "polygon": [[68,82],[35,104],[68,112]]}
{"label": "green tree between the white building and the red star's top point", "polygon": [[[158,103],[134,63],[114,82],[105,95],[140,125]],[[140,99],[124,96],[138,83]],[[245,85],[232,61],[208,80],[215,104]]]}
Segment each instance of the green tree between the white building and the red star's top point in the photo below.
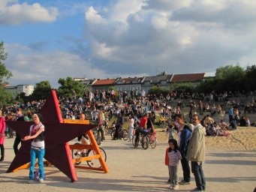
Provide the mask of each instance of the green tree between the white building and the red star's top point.
{"label": "green tree between the white building and the red star's top point", "polygon": [[49,81],[41,81],[40,83],[35,84],[35,89],[31,98],[36,101],[47,99],[51,90]]}

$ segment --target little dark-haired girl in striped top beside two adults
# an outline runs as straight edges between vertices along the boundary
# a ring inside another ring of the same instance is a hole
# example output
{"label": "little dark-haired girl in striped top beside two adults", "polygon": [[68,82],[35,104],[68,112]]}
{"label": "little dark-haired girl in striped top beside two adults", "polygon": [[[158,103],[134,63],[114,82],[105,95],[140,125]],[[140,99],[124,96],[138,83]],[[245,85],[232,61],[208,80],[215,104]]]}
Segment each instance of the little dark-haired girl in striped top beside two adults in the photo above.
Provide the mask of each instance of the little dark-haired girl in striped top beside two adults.
{"label": "little dark-haired girl in striped top beside two adults", "polygon": [[178,165],[179,160],[182,159],[182,155],[178,150],[178,143],[176,139],[169,139],[169,147],[166,149],[165,153],[165,164],[168,166],[169,170],[169,180],[170,189],[176,190],[179,189],[178,185]]}

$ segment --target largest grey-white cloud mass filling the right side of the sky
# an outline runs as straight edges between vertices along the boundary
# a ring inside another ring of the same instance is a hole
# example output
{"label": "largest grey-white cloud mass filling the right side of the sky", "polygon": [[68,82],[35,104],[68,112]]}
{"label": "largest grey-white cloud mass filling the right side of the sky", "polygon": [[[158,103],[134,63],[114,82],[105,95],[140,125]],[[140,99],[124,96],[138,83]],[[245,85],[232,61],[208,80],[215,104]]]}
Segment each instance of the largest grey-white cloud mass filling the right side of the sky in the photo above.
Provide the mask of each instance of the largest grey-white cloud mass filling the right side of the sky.
{"label": "largest grey-white cloud mass filling the right side of the sky", "polygon": [[[252,31],[246,30],[248,26],[244,29],[228,27],[230,23],[235,22],[230,18],[237,17],[237,13],[245,17],[245,7],[251,10],[249,1],[153,0],[144,1],[146,4],[143,6],[134,6],[134,1],[131,1],[131,5],[126,4],[127,1],[115,2],[112,7],[107,7],[107,12],[98,10],[98,17],[105,18],[104,24],[90,20],[86,26],[89,31],[91,28],[100,30],[90,31],[86,37],[94,39],[91,42],[92,46],[104,44],[104,48],[108,48],[111,57],[116,58],[115,61],[119,61],[119,66],[122,65],[124,68],[119,69],[122,74],[145,70],[148,74],[155,74],[156,65],[170,74],[215,71],[221,65],[231,65],[244,55],[255,52],[251,43],[246,40],[246,37],[250,37],[249,40],[255,42],[256,33],[252,25]],[[122,13],[120,5],[128,11]],[[256,13],[249,11],[246,18],[246,23],[252,24]],[[120,33],[116,33],[116,28],[125,24],[126,27]],[[113,47],[114,51],[110,51]],[[104,61],[109,62],[110,57],[101,60],[99,50],[102,51],[102,47],[92,50],[92,55],[95,56],[92,60],[98,62],[98,65]],[[107,73],[118,71],[111,68],[110,64],[104,66]]]}

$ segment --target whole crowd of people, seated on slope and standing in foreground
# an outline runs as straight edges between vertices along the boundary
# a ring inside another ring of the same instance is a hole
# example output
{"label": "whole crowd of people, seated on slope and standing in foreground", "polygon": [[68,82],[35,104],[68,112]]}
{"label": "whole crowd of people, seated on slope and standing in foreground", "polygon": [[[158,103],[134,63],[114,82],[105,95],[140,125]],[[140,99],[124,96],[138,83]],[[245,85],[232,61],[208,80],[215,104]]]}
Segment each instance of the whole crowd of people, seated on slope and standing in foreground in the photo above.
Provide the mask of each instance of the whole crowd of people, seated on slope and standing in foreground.
{"label": "whole crowd of people, seated on slope and standing in foreground", "polygon": [[[239,95],[238,93],[236,93]],[[73,98],[59,98],[59,106],[62,111],[63,118],[70,119],[89,119],[95,124],[98,124],[97,136],[104,141],[105,129],[108,127],[110,118],[115,117],[116,133],[113,140],[118,139],[119,128],[123,126],[125,121],[128,121],[129,140],[138,136],[144,131],[155,131],[155,125],[167,122],[167,130],[169,131],[169,145],[166,151],[165,163],[168,166],[170,178],[170,188],[176,190],[179,184],[191,183],[191,172],[194,173],[194,178],[197,187],[194,191],[206,189],[206,181],[203,175],[202,162],[205,156],[204,136],[228,136],[227,130],[236,129],[236,126],[251,126],[248,117],[241,115],[241,105],[235,99],[227,100],[227,93],[223,95],[203,94],[184,94],[177,95],[172,92],[164,98],[162,95],[133,95],[128,98],[128,95],[120,94],[119,98],[114,95],[106,95],[102,92],[86,92],[83,97],[77,97],[74,94]],[[218,98],[218,99],[216,99]],[[222,99],[221,99],[222,98]],[[225,101],[225,106],[217,101]],[[35,156],[41,157],[40,181],[44,181],[44,165],[41,165],[44,159],[44,125],[41,124],[41,107],[45,101],[32,101],[26,104],[14,104],[11,107],[5,107],[0,110],[0,147],[1,158],[5,159],[5,136],[14,138],[14,153],[17,154],[20,142],[26,142],[32,139],[31,150],[31,167],[29,171],[29,183],[34,180]],[[188,107],[188,108],[185,108]],[[229,107],[225,110],[224,107]],[[188,117],[185,121],[185,110],[188,110]],[[23,113],[25,111],[25,113]],[[221,120],[216,122],[215,115],[228,115],[228,122]],[[245,104],[244,114],[255,113],[255,101],[252,99]],[[160,120],[157,121],[156,116],[160,115]],[[165,118],[167,117],[167,118]],[[203,117],[201,119],[201,117]],[[30,133],[24,138],[20,138],[15,134],[11,127],[6,125],[6,121],[34,121],[34,125],[30,128]],[[178,140],[174,139],[174,134],[178,134]],[[81,138],[86,138],[86,135]],[[86,138],[88,139],[88,138]],[[178,182],[177,167],[179,161],[182,164],[183,178]],[[189,164],[191,161],[191,165]],[[38,161],[39,163],[39,161]]]}

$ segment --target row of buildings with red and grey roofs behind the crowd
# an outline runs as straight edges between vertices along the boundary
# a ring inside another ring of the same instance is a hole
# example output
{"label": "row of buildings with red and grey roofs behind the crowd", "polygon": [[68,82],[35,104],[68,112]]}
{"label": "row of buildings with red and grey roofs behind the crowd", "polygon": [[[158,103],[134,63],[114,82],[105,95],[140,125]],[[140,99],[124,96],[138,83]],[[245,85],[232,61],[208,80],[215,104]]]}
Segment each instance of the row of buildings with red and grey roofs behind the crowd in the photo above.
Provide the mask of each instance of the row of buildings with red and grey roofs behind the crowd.
{"label": "row of buildings with red and grey roofs behind the crowd", "polygon": [[[118,92],[127,92],[129,94],[131,91],[144,91],[145,93],[148,93],[152,86],[167,88],[172,83],[191,83],[192,85],[197,86],[200,82],[206,80],[207,78],[209,77],[206,77],[205,73],[167,74],[167,72],[164,71],[156,76],[147,77],[118,77],[115,79],[108,78],[104,80],[74,78],[74,80],[80,81],[80,83],[82,83],[88,89],[91,89],[92,92],[95,92],[96,90],[99,92],[107,91],[110,87],[114,87]],[[5,89],[10,90],[14,95],[24,92],[26,96],[29,96],[34,92],[34,86],[32,85],[6,86]]]}

